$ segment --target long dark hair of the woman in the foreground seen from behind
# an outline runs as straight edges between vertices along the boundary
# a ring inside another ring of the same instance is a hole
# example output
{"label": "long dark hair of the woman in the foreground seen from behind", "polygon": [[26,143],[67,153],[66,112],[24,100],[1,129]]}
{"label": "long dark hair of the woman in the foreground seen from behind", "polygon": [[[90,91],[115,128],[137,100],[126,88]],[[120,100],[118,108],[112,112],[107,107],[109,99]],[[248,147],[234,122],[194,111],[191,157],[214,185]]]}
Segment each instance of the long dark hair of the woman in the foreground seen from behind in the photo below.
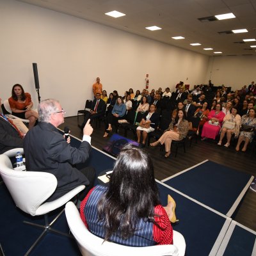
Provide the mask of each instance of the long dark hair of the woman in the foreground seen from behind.
{"label": "long dark hair of the woman in the foreground seen from behind", "polygon": [[99,220],[105,220],[104,239],[118,231],[123,239],[131,237],[139,218],[159,227],[154,220],[154,207],[159,204],[150,157],[138,147],[125,145],[116,159],[109,189],[98,203]]}

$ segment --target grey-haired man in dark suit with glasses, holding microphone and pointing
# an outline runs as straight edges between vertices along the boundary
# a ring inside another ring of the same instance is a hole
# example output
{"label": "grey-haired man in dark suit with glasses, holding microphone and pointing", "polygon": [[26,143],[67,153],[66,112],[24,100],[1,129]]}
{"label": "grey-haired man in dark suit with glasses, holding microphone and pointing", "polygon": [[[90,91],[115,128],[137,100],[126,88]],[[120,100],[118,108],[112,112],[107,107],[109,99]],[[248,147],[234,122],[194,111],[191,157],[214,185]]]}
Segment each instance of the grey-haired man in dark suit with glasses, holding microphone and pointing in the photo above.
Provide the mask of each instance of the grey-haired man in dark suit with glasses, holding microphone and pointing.
{"label": "grey-haired man in dark suit with glasses, holding microphone and pointing", "polygon": [[71,147],[57,127],[64,122],[65,110],[60,102],[47,99],[38,106],[39,123],[29,130],[24,138],[26,169],[35,172],[52,173],[58,180],[57,188],[47,199],[56,200],[79,185],[85,185],[79,199],[82,200],[92,188],[95,170],[90,167],[77,170],[73,164],[85,163],[90,157],[92,126],[86,123],[83,129],[81,145]]}

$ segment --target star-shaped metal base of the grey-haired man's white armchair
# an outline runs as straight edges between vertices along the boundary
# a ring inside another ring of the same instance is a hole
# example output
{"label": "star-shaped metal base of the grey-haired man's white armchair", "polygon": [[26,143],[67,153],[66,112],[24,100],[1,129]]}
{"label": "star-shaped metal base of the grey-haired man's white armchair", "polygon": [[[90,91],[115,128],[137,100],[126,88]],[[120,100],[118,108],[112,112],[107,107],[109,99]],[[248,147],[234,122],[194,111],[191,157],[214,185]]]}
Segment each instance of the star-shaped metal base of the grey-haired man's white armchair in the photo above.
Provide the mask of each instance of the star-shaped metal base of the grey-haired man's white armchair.
{"label": "star-shaped metal base of the grey-haired man's white armchair", "polygon": [[39,241],[42,239],[42,237],[44,237],[44,235],[47,232],[52,232],[52,233],[55,233],[55,234],[60,234],[62,236],[67,236],[67,237],[70,237],[70,238],[74,239],[74,237],[71,236],[70,234],[66,234],[64,232],[61,232],[60,230],[56,230],[56,229],[51,227],[51,225],[61,216],[61,214],[64,211],[65,211],[65,208],[54,218],[54,220],[52,220],[52,222],[50,224],[49,224],[49,221],[48,221],[48,215],[47,214],[44,214],[45,225],[39,225],[39,224],[30,222],[30,221],[23,221],[23,223],[25,223],[25,224],[32,225],[34,227],[39,227],[39,228],[43,228],[44,229],[42,234],[36,239],[35,243],[33,243],[32,246],[29,248],[28,252],[26,252],[25,256],[28,256],[29,253],[31,253],[33,248],[35,248],[36,244],[39,243]]}

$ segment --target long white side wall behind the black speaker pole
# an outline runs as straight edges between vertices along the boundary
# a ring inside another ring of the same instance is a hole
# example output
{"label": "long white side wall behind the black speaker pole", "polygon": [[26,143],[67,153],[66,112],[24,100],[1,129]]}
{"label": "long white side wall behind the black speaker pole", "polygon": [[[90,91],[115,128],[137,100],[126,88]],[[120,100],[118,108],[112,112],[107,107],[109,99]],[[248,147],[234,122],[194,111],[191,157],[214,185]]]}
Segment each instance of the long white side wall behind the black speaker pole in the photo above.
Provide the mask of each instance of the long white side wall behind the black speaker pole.
{"label": "long white side wall behind the black speaker pole", "polygon": [[146,74],[150,89],[172,90],[180,80],[204,83],[209,62],[202,54],[14,0],[0,1],[0,35],[0,97],[10,97],[20,83],[37,106],[36,62],[42,99],[59,99],[67,116],[92,98],[97,76],[108,93],[141,90]]}

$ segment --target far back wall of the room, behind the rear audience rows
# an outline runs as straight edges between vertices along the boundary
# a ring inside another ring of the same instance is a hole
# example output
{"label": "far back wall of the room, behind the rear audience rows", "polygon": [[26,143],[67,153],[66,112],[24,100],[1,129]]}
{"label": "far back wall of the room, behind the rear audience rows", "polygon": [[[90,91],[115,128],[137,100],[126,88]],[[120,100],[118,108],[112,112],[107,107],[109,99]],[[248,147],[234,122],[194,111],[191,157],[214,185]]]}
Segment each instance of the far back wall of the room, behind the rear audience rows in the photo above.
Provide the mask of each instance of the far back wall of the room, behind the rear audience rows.
{"label": "far back wall of the room, behind the rear audience rows", "polygon": [[[211,77],[211,78],[210,78]],[[225,84],[232,90],[256,81],[256,56],[215,56],[209,61],[207,80],[216,86]]]}

